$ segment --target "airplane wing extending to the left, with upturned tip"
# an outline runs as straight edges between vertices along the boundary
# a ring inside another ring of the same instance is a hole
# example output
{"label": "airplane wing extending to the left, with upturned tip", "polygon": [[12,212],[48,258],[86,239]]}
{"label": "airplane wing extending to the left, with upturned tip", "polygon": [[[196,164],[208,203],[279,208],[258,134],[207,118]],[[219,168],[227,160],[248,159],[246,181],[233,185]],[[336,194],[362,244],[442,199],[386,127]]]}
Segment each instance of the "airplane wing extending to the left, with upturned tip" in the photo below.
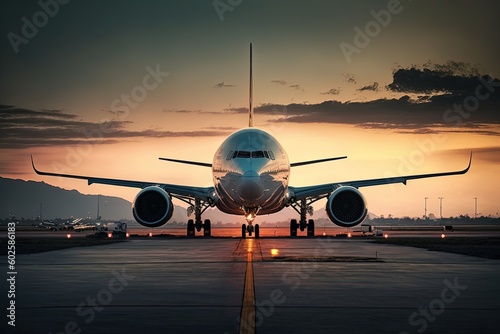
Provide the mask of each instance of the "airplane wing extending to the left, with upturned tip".
{"label": "airplane wing extending to the left, with upturned tip", "polygon": [[33,156],[31,157],[31,165],[33,166],[33,170],[38,175],[58,176],[58,177],[66,177],[72,179],[87,180],[89,185],[93,183],[98,183],[98,184],[108,184],[114,186],[140,188],[140,189],[146,188],[148,186],[159,186],[160,188],[163,188],[163,190],[165,190],[167,193],[169,193],[172,197],[176,198],[189,197],[189,198],[209,201],[209,199],[211,198],[210,194],[212,194],[214,191],[214,187],[191,187],[191,186],[182,186],[176,184],[158,183],[158,182],[108,179],[108,178],[93,177],[93,176],[43,172],[36,169],[35,163],[33,162]]}

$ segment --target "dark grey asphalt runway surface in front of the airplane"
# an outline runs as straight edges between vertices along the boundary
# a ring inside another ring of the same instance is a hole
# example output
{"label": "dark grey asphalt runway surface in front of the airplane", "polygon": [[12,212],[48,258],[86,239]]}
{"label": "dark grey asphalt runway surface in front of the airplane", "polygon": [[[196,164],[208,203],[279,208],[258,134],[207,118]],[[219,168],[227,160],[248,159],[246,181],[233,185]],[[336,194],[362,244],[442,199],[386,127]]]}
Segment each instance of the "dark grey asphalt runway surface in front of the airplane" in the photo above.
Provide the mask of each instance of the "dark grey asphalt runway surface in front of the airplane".
{"label": "dark grey asphalt runway surface in front of the airplane", "polygon": [[17,272],[7,333],[498,332],[498,260],[361,238],[135,239]]}

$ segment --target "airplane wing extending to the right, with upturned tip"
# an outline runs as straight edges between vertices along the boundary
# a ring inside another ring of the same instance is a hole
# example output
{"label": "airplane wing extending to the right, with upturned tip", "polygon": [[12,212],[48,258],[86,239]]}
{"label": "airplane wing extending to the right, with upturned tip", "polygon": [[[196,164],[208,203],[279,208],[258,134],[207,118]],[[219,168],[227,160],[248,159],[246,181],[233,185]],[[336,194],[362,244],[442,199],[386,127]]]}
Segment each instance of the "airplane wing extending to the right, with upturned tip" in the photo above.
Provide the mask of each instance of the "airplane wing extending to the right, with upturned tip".
{"label": "airplane wing extending to the right, with upturned tip", "polygon": [[387,178],[380,178],[380,179],[345,181],[345,182],[327,183],[327,184],[308,186],[308,187],[289,187],[289,189],[293,191],[294,197],[296,200],[301,200],[301,199],[310,198],[310,197],[322,198],[322,197],[328,196],[330,193],[332,193],[339,186],[351,186],[354,188],[360,188],[360,187],[378,186],[378,185],[385,185],[385,184],[392,184],[392,183],[403,183],[404,185],[406,185],[406,182],[408,182],[409,180],[465,174],[469,170],[471,162],[472,162],[472,152],[470,154],[468,166],[465,169],[459,170],[459,171],[444,172],[444,173],[432,173],[432,174],[394,176],[394,177],[387,177]]}

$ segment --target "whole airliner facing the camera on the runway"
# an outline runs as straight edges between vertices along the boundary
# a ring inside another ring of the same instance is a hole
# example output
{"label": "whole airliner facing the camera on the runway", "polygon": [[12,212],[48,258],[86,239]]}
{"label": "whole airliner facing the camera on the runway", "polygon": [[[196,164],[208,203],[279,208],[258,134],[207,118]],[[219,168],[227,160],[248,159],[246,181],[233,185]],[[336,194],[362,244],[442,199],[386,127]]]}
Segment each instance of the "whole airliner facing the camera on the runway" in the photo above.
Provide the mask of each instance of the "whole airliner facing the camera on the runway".
{"label": "whole airliner facing the camera on the runway", "polygon": [[195,230],[203,229],[204,236],[211,235],[210,220],[202,220],[202,214],[216,207],[220,211],[243,215],[247,224],[241,226],[241,237],[260,236],[259,224],[253,224],[257,215],[278,212],[286,207],[293,208],[299,220],[291,219],[290,236],[296,237],[297,230],[306,230],[308,237],[314,237],[314,220],[311,204],[326,198],[326,213],[330,220],[341,227],[354,227],[362,223],[368,209],[365,198],[359,191],[361,187],[403,183],[407,181],[465,174],[472,162],[472,152],[468,166],[459,171],[394,176],[379,179],[343,181],[306,187],[288,184],[291,168],[310,164],[345,159],[346,156],[290,163],[285,149],[266,131],[253,126],[253,74],[252,44],[250,43],[250,83],[248,127],[240,129],[224,140],[215,152],[212,163],[159,158],[174,163],[189,164],[212,169],[213,186],[196,187],[161,182],[110,179],[44,172],[36,169],[31,156],[33,170],[39,175],[67,177],[87,180],[88,184],[107,184],[141,189],[132,204],[135,220],[146,227],[159,227],[166,224],[173,214],[172,198],[189,205],[188,216],[194,219],[187,223],[187,235],[194,236]]}

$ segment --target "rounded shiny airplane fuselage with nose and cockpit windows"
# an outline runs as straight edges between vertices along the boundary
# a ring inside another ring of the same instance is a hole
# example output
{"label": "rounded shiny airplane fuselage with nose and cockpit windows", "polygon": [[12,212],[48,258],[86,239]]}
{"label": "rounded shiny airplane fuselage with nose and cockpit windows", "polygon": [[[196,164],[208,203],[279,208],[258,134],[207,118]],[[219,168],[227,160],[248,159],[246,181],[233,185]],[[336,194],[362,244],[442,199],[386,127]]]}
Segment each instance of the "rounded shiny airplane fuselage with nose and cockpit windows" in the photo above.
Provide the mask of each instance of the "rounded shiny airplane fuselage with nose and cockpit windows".
{"label": "rounded shiny airplane fuselage with nose and cockpit windows", "polygon": [[269,133],[245,128],[230,135],[215,153],[213,181],[217,207],[229,214],[280,211],[288,196],[290,162],[283,147]]}

